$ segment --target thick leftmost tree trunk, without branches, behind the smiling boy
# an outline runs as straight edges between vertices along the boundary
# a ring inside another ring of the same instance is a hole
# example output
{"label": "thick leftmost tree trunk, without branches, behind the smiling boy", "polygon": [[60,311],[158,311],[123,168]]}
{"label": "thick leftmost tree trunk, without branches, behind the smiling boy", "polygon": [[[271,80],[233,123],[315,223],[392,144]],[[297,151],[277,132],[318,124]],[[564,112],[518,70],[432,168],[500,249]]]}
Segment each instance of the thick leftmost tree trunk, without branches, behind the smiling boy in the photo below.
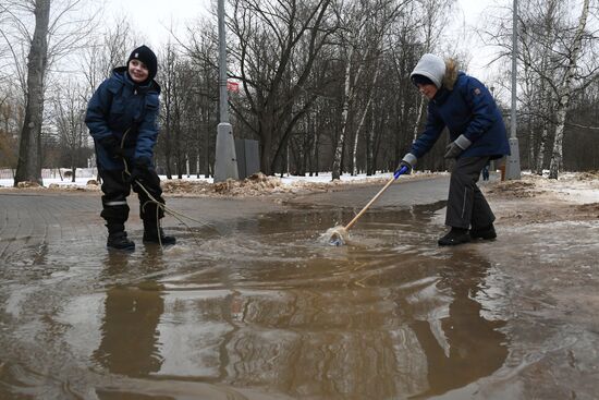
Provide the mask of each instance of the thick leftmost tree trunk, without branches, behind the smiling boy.
{"label": "thick leftmost tree trunk, without branches, behind the smiling boy", "polygon": [[44,77],[48,62],[48,25],[50,0],[35,3],[35,31],[27,63],[25,120],[21,131],[19,161],[14,185],[19,182],[41,184],[41,122],[44,116]]}

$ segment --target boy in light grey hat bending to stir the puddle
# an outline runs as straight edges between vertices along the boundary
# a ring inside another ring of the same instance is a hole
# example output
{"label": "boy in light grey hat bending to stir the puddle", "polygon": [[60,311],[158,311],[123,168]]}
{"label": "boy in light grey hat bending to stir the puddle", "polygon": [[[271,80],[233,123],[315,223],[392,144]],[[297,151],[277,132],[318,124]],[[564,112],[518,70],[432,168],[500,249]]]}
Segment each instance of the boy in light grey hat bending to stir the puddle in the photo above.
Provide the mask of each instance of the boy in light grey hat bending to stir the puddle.
{"label": "boy in light grey hat bending to stir the puddle", "polygon": [[476,185],[489,160],[510,154],[505,125],[493,97],[479,81],[457,71],[452,60],[445,62],[430,53],[420,58],[411,78],[429,99],[428,117],[425,131],[403,157],[400,168],[414,168],[444,128],[450,135],[444,157],[455,159],[445,216],[451,230],[439,239],[439,245],[497,238],[494,215]]}

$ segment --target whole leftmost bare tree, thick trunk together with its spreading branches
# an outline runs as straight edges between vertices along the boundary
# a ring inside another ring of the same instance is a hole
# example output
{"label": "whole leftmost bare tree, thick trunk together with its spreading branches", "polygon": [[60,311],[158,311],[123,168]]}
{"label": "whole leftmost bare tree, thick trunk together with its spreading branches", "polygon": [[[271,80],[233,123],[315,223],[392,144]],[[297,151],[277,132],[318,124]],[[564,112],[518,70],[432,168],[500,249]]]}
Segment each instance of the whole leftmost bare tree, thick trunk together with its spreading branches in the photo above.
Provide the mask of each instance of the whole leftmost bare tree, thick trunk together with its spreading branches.
{"label": "whole leftmost bare tree, thick trunk together with its spreading branches", "polygon": [[[50,13],[52,4],[56,7]],[[94,13],[95,8],[85,5],[84,0],[10,0],[0,5],[10,14],[11,24],[2,36],[11,49],[25,102],[15,185],[22,181],[41,182],[41,125],[48,72],[88,38],[98,14]],[[34,21],[29,21],[32,16]]]}

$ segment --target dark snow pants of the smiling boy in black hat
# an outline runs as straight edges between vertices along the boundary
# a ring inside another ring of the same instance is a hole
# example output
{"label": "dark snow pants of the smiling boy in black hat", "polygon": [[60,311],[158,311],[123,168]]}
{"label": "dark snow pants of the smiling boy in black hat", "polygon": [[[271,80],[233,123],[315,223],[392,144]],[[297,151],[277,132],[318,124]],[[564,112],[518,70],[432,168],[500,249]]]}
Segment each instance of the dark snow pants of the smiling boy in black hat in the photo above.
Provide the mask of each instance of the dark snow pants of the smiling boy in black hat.
{"label": "dark snow pants of the smiling boy in black hat", "polygon": [[[162,207],[150,201],[148,194],[137,184],[130,184],[125,181],[124,170],[103,170],[99,169],[102,179],[102,211],[100,216],[106,220],[108,232],[113,233],[124,230],[124,223],[129,219],[129,205],[126,197],[131,189],[139,197],[139,217],[142,220],[154,221],[164,217]],[[160,178],[155,170],[149,169],[143,177],[144,189],[159,203],[164,204],[162,198],[162,189],[160,187]]]}

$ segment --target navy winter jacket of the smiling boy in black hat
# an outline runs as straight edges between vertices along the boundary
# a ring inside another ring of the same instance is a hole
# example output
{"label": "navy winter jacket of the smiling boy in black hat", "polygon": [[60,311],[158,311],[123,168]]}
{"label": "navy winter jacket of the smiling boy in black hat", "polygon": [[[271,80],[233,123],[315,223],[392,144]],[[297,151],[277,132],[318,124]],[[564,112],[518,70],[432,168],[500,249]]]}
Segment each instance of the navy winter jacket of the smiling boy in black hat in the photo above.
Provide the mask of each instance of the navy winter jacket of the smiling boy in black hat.
{"label": "navy winter jacket of the smiling boy in black hat", "polygon": [[87,106],[85,123],[96,145],[98,168],[123,169],[122,159],[109,154],[110,148],[102,140],[113,135],[119,143],[123,140],[125,158],[130,166],[145,157],[152,159],[158,135],[160,86],[155,81],[139,86],[126,74],[126,66],[114,69],[112,76],[103,81],[91,96]]}

